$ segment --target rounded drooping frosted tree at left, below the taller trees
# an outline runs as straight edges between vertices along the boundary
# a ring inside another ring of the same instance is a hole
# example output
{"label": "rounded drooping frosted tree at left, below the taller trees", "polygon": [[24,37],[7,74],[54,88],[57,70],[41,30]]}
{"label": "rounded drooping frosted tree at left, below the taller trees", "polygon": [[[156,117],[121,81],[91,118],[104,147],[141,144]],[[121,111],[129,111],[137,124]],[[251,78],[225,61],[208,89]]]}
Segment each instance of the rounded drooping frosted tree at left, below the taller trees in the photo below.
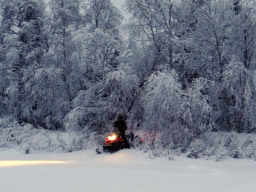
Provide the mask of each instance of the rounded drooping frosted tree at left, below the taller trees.
{"label": "rounded drooping frosted tree at left, below the taller trees", "polygon": [[35,127],[63,130],[62,121],[70,106],[62,75],[62,70],[54,66],[41,67],[25,84],[30,103],[23,106],[23,115]]}

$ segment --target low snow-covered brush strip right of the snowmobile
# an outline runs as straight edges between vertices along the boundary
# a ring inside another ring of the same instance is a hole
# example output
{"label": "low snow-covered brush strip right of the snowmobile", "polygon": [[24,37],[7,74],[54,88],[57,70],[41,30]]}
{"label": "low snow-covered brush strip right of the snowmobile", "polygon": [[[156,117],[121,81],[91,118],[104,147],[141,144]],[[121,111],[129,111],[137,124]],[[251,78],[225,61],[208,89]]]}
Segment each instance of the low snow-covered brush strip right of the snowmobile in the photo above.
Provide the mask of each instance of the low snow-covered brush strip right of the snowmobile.
{"label": "low snow-covered brush strip right of the snowmobile", "polygon": [[[141,141],[135,141],[134,147],[148,153],[150,158],[167,157],[172,160],[175,155],[185,154],[189,158],[207,158],[216,161],[232,157],[256,160],[256,134],[208,132],[190,141],[189,146],[165,142],[167,134],[160,132],[138,131]],[[142,143],[140,143],[142,142]]]}

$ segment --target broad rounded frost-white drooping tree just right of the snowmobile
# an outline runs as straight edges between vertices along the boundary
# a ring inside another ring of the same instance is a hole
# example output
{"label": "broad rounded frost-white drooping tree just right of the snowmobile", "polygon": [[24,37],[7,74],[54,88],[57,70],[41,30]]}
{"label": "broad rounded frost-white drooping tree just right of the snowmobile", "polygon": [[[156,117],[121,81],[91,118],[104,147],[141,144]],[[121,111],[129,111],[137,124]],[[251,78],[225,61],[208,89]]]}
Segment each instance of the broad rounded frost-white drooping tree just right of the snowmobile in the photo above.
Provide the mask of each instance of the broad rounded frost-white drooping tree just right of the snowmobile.
{"label": "broad rounded frost-white drooping tree just right of the snowmobile", "polygon": [[163,133],[163,142],[188,145],[210,125],[212,109],[208,97],[201,93],[205,83],[199,79],[192,87],[182,90],[175,71],[152,74],[143,97],[144,129]]}

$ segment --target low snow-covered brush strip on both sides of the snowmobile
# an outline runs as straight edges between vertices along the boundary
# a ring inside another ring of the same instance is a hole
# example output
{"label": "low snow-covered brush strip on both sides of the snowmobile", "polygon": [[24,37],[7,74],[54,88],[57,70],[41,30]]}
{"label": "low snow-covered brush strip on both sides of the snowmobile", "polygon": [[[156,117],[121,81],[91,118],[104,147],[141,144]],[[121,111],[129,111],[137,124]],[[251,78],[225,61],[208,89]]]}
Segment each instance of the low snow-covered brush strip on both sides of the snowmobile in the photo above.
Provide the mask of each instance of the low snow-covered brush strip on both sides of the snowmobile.
{"label": "low snow-covered brush strip on both sides of the snowmobile", "polygon": [[[24,153],[30,152],[72,152],[95,149],[102,145],[105,135],[88,133],[89,131],[48,131],[35,129],[32,125],[19,125],[11,118],[0,118],[0,148],[15,148]],[[256,134],[238,134],[235,132],[205,133],[193,140],[189,147],[165,143],[160,132],[133,131],[133,147],[148,154],[149,158],[186,154],[189,158],[208,158],[223,160],[227,157],[250,158],[256,160]]]}

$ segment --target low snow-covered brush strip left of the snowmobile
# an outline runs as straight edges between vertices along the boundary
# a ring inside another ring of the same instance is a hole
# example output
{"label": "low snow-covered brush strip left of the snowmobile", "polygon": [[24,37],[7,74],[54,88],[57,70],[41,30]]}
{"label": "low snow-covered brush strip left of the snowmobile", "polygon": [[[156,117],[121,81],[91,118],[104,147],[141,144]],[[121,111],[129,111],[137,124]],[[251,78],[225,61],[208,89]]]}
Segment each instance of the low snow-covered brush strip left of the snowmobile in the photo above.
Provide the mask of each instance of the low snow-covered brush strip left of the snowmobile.
{"label": "low snow-covered brush strip left of the snowmobile", "polygon": [[19,125],[11,118],[0,119],[0,148],[30,152],[71,152],[95,147],[95,134],[60,132]]}

